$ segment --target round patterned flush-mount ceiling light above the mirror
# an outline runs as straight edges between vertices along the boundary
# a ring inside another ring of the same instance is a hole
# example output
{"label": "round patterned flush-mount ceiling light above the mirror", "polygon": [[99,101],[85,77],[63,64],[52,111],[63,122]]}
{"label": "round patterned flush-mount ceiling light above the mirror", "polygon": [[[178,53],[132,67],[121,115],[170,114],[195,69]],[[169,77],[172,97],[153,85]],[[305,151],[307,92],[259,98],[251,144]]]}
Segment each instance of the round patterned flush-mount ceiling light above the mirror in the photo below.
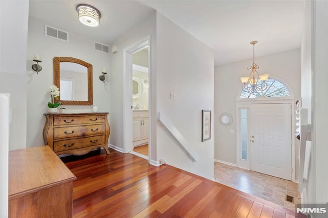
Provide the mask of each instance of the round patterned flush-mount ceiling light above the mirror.
{"label": "round patterned flush-mount ceiling light above the mirror", "polygon": [[96,27],[100,23],[100,11],[91,5],[79,4],[76,6],[78,19],[84,25]]}

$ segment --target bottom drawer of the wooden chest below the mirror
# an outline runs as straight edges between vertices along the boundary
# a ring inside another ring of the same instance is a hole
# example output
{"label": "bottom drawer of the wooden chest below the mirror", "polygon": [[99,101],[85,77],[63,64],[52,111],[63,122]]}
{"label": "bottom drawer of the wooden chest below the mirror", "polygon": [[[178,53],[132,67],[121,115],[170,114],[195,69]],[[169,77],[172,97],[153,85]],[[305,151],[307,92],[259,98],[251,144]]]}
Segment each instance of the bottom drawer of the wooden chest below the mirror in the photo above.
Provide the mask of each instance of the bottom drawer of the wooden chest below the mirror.
{"label": "bottom drawer of the wooden chest below the mirror", "polygon": [[91,136],[77,139],[60,140],[53,143],[53,150],[55,152],[63,150],[71,150],[82,147],[89,147],[92,145],[100,145],[105,143],[105,135]]}

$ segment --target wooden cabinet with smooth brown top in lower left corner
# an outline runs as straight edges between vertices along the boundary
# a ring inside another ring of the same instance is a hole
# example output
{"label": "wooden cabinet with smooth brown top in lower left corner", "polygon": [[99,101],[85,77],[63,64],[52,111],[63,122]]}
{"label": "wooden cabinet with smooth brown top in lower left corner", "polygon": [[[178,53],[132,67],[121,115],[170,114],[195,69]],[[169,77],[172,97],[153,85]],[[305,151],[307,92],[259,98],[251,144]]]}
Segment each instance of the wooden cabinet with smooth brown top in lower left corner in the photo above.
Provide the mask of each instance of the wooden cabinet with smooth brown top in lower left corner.
{"label": "wooden cabinet with smooth brown top in lower left corner", "polygon": [[9,217],[72,217],[75,179],[49,146],[9,151]]}

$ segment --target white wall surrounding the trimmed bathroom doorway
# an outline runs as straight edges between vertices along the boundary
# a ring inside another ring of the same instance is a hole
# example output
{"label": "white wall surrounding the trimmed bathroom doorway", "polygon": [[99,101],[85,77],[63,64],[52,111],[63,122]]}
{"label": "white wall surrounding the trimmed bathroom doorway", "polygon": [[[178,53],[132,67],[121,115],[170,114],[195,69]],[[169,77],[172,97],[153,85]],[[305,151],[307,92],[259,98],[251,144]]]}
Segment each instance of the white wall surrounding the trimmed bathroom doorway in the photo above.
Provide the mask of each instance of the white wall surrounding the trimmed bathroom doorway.
{"label": "white wall surrounding the trimmed bathroom doorway", "polygon": [[[110,126],[111,136],[110,144],[115,146],[117,149],[124,149],[124,49],[138,42],[139,40],[149,36],[151,37],[151,73],[152,73],[152,84],[156,85],[153,80],[156,78],[156,16],[155,13],[142,21],[139,25],[134,26],[127,33],[118,37],[112,45],[118,46],[118,51],[110,55],[110,74],[109,80],[110,86]],[[154,90],[156,93],[156,90]],[[155,95],[152,95],[155,97]],[[156,117],[156,100],[153,99],[153,111],[152,116]],[[131,106],[131,105],[127,105]],[[155,120],[155,119],[153,119]],[[131,118],[132,126],[132,118]],[[153,128],[154,121],[150,123],[150,128],[153,129],[153,133],[156,132],[156,128]],[[153,151],[156,150],[156,137],[151,137],[151,144],[154,146]],[[131,142],[132,143],[132,142]],[[150,154],[151,160],[156,160],[156,152]]]}

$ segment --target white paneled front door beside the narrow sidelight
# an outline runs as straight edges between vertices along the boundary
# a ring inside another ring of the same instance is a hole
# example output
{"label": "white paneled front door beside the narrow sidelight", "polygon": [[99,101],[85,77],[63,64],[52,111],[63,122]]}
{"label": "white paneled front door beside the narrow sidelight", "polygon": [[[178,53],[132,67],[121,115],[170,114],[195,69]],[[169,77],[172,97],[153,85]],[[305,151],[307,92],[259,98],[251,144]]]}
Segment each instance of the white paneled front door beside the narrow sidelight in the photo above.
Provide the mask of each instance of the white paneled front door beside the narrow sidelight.
{"label": "white paneled front door beside the narrow sidelight", "polygon": [[251,105],[251,169],[292,180],[291,104]]}

